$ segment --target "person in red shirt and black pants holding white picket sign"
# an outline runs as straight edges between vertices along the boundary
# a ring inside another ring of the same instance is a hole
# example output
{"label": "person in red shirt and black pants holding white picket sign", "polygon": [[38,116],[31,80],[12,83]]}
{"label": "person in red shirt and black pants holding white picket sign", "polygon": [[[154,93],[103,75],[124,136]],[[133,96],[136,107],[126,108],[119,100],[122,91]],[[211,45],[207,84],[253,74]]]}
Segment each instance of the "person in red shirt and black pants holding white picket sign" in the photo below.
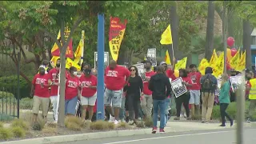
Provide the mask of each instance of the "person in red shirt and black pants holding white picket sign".
{"label": "person in red shirt and black pants holding white picket sign", "polygon": [[178,98],[175,98],[177,118],[174,118],[174,120],[180,120],[182,103],[186,110],[186,119],[190,120],[189,102],[190,102],[190,87],[192,86],[192,81],[191,81],[191,78],[187,75],[187,72],[185,69],[179,70],[179,76],[182,78],[182,81],[183,81],[182,84],[186,86],[187,92],[185,94],[182,94]]}

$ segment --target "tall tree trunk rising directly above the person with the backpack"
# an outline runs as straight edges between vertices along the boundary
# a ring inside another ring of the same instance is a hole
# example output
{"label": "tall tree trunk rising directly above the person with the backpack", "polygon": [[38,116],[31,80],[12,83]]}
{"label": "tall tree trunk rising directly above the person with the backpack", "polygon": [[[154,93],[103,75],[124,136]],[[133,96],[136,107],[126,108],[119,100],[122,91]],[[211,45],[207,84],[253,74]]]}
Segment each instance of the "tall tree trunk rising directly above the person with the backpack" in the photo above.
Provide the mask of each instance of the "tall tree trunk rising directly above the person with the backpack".
{"label": "tall tree trunk rising directly above the person with the backpack", "polygon": [[214,50],[214,2],[208,2],[208,16],[206,28],[206,48],[205,58],[210,61],[211,54]]}

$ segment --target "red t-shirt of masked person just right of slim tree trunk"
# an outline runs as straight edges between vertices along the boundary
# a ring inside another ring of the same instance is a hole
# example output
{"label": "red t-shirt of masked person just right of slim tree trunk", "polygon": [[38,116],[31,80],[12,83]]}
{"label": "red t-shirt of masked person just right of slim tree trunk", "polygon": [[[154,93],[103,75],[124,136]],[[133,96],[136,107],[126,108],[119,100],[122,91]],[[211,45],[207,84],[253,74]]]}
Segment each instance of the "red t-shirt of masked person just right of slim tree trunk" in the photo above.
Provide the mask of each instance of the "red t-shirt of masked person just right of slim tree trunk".
{"label": "red t-shirt of masked person just right of slim tree trunk", "polygon": [[71,77],[68,74],[66,78],[66,90],[65,90],[65,99],[72,99],[78,96],[78,86],[80,86],[80,81],[78,77]]}

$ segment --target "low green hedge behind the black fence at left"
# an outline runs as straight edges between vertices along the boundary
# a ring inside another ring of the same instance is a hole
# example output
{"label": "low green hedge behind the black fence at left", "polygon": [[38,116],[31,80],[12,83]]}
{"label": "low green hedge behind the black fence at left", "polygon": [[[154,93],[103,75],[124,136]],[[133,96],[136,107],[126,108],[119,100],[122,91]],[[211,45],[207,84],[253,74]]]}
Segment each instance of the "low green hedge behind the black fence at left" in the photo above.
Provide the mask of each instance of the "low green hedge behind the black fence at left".
{"label": "low green hedge behind the black fence at left", "polygon": [[[33,76],[28,76],[32,80]],[[26,82],[25,78],[20,77],[19,88],[20,88],[20,99],[30,96],[30,83]],[[17,98],[17,75],[12,75],[8,77],[0,78],[0,89],[14,94],[14,97]]]}

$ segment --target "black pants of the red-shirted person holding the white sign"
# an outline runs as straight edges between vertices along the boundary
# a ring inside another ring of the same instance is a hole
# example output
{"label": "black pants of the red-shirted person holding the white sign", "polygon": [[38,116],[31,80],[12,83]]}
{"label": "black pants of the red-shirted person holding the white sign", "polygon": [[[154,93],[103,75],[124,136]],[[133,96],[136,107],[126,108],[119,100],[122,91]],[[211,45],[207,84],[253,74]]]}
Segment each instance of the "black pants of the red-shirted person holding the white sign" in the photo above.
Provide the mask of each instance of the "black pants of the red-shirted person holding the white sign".
{"label": "black pants of the red-shirted person holding the white sign", "polygon": [[177,117],[180,117],[181,110],[182,110],[182,103],[186,110],[186,117],[190,117],[190,93],[185,93],[179,96],[178,98],[175,98],[176,102],[176,110],[177,110]]}

